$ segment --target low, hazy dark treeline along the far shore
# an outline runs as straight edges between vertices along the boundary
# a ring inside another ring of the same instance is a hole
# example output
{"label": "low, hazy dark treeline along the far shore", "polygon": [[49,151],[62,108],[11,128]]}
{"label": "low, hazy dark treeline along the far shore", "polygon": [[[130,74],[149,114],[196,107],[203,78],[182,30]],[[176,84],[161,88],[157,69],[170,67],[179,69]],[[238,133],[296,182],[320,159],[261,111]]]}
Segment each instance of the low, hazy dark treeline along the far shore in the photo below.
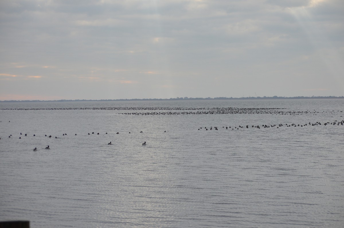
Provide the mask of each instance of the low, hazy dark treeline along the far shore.
{"label": "low, hazy dark treeline along the far shore", "polygon": [[311,96],[311,97],[278,97],[278,96],[273,96],[273,97],[176,97],[176,98],[143,98],[143,99],[101,99],[101,100],[86,100],[86,99],[76,99],[76,100],[2,100],[0,102],[65,102],[65,101],[167,101],[167,100],[275,100],[275,99],[343,99],[344,96],[341,97],[335,97],[335,96]]}

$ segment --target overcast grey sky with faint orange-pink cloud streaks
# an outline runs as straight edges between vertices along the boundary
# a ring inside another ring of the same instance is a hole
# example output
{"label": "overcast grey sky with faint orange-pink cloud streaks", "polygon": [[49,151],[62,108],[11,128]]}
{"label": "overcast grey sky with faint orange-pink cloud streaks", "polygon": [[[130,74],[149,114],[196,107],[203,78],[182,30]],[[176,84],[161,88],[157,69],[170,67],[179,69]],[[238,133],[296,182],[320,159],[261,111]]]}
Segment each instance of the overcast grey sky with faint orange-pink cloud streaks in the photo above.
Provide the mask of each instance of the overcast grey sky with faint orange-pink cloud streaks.
{"label": "overcast grey sky with faint orange-pink cloud streaks", "polygon": [[0,100],[344,96],[343,0],[1,0]]}

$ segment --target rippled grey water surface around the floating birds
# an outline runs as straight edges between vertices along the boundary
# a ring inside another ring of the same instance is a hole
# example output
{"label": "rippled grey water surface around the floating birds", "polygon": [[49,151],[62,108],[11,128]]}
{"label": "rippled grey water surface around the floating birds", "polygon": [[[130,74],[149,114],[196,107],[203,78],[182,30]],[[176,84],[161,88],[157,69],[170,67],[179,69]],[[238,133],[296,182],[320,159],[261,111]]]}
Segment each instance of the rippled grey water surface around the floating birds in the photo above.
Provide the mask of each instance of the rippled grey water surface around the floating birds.
{"label": "rippled grey water surface around the floating birds", "polygon": [[344,99],[0,103],[0,220],[343,227],[343,111]]}

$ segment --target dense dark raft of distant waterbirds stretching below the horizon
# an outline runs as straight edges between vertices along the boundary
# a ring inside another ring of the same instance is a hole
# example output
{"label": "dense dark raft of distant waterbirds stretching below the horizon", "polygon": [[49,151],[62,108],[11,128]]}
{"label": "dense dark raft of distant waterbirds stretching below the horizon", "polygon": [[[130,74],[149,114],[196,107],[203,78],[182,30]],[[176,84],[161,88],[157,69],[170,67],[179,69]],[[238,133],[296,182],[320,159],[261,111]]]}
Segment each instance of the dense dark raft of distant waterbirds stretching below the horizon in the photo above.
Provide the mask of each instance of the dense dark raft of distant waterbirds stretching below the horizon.
{"label": "dense dark raft of distant waterbirds stretching below the horizon", "polygon": [[[200,115],[200,114],[272,114],[272,115],[302,115],[324,113],[327,111],[295,111],[283,110],[286,108],[187,108],[187,107],[93,107],[93,108],[14,108],[0,110],[121,110],[132,112],[120,112],[122,115]],[[153,111],[153,112],[149,112]],[[342,112],[342,111],[328,111]]]}

